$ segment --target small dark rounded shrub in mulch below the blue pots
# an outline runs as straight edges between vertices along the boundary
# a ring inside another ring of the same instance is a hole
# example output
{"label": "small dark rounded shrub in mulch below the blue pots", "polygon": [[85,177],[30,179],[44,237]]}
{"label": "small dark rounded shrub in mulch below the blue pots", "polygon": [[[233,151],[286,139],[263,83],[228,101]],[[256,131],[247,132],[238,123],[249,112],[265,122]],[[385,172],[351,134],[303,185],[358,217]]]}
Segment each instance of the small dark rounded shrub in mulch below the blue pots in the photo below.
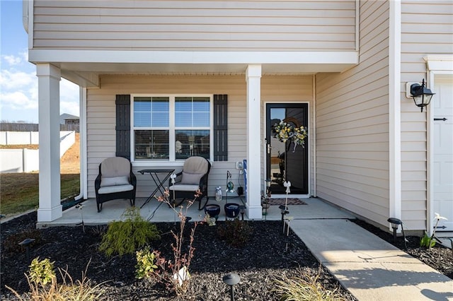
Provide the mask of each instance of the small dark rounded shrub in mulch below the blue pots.
{"label": "small dark rounded shrub in mulch below the blue pots", "polygon": [[225,223],[217,228],[217,235],[221,240],[225,240],[234,247],[243,247],[252,234],[253,229],[246,220],[226,220]]}

